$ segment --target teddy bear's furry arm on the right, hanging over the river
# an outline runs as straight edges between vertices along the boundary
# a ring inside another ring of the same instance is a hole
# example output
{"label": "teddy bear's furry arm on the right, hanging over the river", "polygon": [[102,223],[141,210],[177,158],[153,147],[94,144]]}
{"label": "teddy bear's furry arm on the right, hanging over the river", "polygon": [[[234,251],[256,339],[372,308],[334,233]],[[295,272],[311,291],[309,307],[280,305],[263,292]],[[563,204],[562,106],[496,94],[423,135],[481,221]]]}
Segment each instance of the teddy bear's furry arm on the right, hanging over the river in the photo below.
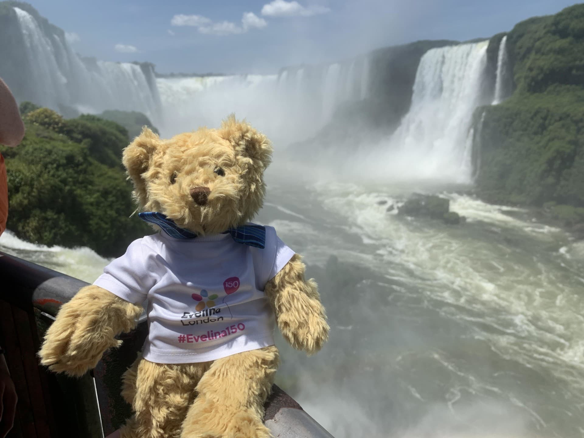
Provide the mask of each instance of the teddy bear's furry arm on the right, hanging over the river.
{"label": "teddy bear's furry arm on the right, hanging over the river", "polygon": [[295,254],[267,282],[265,291],[284,339],[295,349],[314,354],[328,340],[329,326],[317,283],[304,279],[305,269]]}

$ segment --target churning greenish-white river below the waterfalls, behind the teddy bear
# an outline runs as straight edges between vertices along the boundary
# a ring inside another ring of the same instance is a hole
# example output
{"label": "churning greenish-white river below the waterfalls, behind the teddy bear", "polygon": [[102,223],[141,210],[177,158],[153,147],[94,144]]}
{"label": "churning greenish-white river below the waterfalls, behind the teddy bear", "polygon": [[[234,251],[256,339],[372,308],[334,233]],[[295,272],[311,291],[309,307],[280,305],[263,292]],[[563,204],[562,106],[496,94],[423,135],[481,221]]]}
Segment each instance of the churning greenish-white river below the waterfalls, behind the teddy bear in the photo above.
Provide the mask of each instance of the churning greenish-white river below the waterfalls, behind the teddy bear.
{"label": "churning greenish-white river below the waterfalls, behind the teddy bear", "polygon": [[[331,323],[313,357],[278,339],[277,383],[336,438],[582,436],[584,242],[454,192],[449,226],[387,211],[414,187],[268,180],[256,222],[305,256]],[[0,249],[89,282],[108,262]]]}

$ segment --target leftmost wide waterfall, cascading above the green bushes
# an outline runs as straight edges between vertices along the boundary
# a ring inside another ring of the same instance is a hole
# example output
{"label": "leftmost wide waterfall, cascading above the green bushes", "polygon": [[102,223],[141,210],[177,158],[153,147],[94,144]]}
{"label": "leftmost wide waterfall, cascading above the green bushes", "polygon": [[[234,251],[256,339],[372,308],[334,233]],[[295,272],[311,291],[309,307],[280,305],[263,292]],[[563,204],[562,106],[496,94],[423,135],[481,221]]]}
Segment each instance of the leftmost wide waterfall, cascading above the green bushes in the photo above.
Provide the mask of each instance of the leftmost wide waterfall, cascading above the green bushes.
{"label": "leftmost wide waterfall, cascading above the green bushes", "polygon": [[62,35],[47,34],[30,13],[13,9],[29,64],[22,66],[32,88],[27,98],[55,110],[71,106],[92,113],[140,111],[159,123],[160,100],[150,65],[83,60]]}

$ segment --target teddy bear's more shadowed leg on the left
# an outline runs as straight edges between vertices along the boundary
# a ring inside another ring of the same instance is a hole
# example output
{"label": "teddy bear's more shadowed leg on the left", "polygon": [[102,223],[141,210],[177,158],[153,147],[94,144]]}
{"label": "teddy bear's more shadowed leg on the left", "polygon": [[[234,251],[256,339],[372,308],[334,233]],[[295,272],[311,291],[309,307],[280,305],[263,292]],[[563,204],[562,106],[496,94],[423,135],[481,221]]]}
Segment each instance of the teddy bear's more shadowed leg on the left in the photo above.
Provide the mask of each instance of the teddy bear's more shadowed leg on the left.
{"label": "teddy bear's more shadowed leg on the left", "polygon": [[158,364],[138,358],[124,373],[122,394],[134,415],[120,438],[179,438],[181,423],[209,363]]}

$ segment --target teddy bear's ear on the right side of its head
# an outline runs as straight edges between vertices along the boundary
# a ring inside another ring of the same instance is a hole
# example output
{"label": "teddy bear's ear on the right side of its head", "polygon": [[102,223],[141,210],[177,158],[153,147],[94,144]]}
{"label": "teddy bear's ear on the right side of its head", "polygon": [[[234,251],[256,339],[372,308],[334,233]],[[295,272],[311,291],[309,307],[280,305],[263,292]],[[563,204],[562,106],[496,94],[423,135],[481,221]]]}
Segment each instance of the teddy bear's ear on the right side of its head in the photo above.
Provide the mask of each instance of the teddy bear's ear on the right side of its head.
{"label": "teddy bear's ear on the right side of its head", "polygon": [[249,157],[254,163],[261,163],[266,168],[272,161],[272,144],[265,135],[255,130],[245,120],[235,120],[231,114],[221,124],[218,131],[221,137],[231,143],[237,155]]}

